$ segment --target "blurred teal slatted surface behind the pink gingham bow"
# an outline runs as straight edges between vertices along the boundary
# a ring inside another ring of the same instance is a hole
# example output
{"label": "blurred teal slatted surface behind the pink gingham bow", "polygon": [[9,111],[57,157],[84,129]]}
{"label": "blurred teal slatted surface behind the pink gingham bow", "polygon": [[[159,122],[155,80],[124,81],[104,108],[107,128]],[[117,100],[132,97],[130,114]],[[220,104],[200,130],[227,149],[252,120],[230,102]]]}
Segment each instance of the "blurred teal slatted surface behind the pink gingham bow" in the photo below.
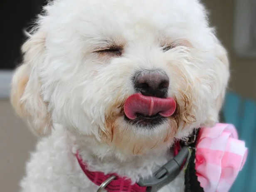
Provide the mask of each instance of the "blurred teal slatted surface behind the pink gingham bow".
{"label": "blurred teal slatted surface behind the pink gingham bow", "polygon": [[230,192],[256,192],[256,101],[229,92],[222,109],[222,121],[232,123],[245,140],[248,158]]}

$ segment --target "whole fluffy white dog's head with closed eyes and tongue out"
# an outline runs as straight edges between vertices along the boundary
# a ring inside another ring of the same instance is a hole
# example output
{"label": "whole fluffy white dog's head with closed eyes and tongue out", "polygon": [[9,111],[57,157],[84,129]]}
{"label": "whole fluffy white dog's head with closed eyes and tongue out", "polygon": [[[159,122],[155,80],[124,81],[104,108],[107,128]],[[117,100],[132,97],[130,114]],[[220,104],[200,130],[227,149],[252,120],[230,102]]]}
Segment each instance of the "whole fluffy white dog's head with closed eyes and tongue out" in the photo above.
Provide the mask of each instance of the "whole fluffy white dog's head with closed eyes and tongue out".
{"label": "whole fluffy white dog's head with closed eyes and tongue out", "polygon": [[197,0],[56,0],[23,46],[12,103],[143,154],[217,122],[229,66]]}

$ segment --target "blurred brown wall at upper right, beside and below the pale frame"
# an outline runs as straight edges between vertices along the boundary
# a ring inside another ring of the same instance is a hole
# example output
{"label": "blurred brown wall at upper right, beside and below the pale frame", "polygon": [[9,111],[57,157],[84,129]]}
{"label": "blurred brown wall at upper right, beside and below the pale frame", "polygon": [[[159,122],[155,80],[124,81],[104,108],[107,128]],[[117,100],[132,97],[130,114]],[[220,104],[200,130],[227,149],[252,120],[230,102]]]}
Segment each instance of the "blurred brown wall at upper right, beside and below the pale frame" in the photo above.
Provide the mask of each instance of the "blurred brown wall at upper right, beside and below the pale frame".
{"label": "blurred brown wall at upper right, beside and below the pale frame", "polygon": [[203,0],[210,9],[212,25],[228,49],[231,63],[230,89],[256,100],[256,58],[238,58],[233,50],[234,0]]}

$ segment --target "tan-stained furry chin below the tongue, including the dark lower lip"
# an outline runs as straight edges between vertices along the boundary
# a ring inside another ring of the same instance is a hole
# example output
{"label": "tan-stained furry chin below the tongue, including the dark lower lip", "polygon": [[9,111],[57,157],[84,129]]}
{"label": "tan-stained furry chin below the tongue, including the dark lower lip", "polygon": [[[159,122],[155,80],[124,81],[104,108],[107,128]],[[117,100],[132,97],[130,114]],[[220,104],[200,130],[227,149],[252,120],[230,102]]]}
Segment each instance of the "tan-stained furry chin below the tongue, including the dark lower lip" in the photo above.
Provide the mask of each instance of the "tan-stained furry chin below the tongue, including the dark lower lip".
{"label": "tan-stained furry chin below the tongue, including the dark lower lip", "polygon": [[106,118],[106,131],[101,140],[124,155],[143,155],[168,148],[177,132],[177,120],[160,114],[136,114],[133,120],[125,113]]}

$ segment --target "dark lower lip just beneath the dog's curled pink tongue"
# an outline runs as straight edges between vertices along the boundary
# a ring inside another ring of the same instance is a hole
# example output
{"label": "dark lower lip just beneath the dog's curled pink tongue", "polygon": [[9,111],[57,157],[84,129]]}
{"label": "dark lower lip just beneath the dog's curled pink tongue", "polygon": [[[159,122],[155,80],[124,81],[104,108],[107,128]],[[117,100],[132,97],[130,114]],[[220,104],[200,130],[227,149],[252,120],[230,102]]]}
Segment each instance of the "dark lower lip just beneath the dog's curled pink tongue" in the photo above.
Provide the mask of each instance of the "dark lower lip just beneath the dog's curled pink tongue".
{"label": "dark lower lip just beneath the dog's curled pink tongue", "polygon": [[136,116],[134,120],[131,120],[124,115],[124,120],[128,125],[147,129],[157,128],[167,121],[167,118],[160,116],[158,113],[153,116],[144,116],[142,114],[137,114]]}

